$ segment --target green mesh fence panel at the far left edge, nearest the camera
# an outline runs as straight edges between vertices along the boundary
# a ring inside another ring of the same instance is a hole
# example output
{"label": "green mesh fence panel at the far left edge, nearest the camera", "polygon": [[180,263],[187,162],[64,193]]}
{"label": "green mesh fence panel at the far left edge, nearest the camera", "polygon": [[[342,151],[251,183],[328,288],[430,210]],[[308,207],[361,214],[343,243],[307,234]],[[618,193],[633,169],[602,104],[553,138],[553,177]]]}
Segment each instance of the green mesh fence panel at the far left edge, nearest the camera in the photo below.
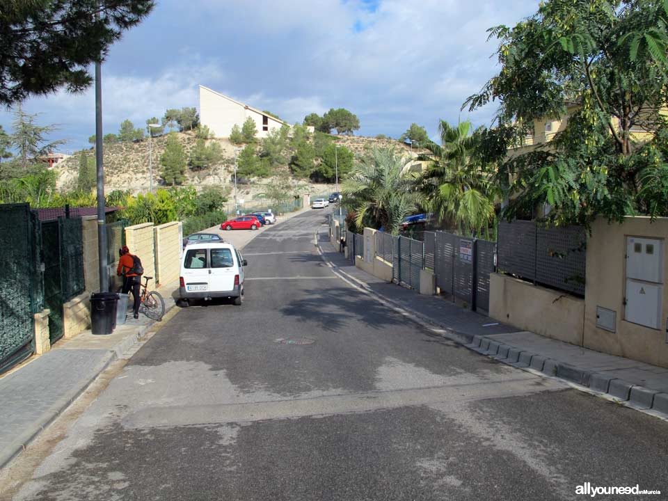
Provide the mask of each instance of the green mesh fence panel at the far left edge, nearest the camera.
{"label": "green mesh fence panel at the far left edge, nearest the camera", "polygon": [[33,352],[33,220],[28,204],[0,205],[0,372]]}

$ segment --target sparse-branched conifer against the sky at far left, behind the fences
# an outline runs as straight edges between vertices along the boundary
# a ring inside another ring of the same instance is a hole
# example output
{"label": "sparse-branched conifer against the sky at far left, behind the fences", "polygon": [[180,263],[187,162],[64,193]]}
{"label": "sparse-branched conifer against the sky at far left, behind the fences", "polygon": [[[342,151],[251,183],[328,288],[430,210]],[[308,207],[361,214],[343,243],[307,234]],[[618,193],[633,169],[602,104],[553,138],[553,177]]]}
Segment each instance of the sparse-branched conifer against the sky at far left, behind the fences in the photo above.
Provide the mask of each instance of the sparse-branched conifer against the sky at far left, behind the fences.
{"label": "sparse-branched conifer against the sky at far left, behind the fences", "polygon": [[[10,141],[12,147],[17,151],[13,164],[15,164],[16,174],[19,177],[29,170],[34,170],[34,168],[40,170],[39,166],[35,166],[35,164],[40,163],[40,159],[65,143],[62,140],[47,141],[46,137],[56,131],[57,127],[54,125],[36,125],[35,118],[37,118],[37,115],[26,113],[20,104],[14,112]],[[33,168],[31,169],[31,167]]]}

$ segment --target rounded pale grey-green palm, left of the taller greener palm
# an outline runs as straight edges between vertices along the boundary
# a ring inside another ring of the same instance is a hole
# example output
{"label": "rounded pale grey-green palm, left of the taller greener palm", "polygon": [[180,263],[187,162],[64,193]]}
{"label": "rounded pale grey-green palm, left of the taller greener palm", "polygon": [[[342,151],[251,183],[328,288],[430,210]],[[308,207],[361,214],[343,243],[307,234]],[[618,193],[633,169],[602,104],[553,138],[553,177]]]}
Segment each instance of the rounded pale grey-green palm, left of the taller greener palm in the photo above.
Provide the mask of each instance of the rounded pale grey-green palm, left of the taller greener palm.
{"label": "rounded pale grey-green palm, left of the taller greener palm", "polygon": [[399,234],[401,222],[417,210],[421,200],[415,189],[416,176],[408,172],[410,161],[392,148],[375,148],[371,157],[353,167],[342,184],[342,193],[356,212],[358,226],[363,225],[363,219],[372,218],[376,228]]}

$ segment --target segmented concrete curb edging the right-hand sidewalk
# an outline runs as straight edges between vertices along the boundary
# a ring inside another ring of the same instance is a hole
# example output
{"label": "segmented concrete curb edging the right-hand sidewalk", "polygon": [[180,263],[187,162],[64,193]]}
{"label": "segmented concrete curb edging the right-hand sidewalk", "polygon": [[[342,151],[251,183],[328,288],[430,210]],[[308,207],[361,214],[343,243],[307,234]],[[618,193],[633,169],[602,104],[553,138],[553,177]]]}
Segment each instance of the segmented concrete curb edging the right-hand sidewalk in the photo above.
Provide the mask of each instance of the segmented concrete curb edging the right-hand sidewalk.
{"label": "segmented concrete curb edging the right-hand sidewalk", "polygon": [[[383,301],[389,303],[393,308],[404,310],[404,305],[397,303],[397,301],[394,301],[387,296],[383,296],[383,294],[375,292],[366,283],[363,283],[357,278],[349,275],[337,267],[337,265],[333,262],[326,260],[319,243],[317,244],[317,248],[320,250],[322,260],[330,264],[335,273],[344,276],[344,279],[346,280],[351,280],[353,283],[355,283],[355,285],[364,289],[369,294],[382,298]],[[607,374],[589,372],[585,369],[581,369],[580,367],[575,367],[568,363],[560,362],[559,360],[535,355],[534,353],[523,351],[522,349],[500,343],[495,341],[493,338],[484,335],[460,333],[452,329],[450,326],[440,324],[438,321],[435,321],[434,319],[426,317],[425,315],[417,312],[411,312],[410,316],[405,316],[413,319],[416,324],[422,327],[424,327],[424,324],[434,326],[442,331],[445,337],[448,337],[449,339],[458,342],[459,344],[463,344],[464,347],[470,349],[471,351],[476,351],[482,355],[489,356],[490,358],[493,358],[493,360],[496,360],[500,363],[511,365],[512,367],[516,367],[518,369],[529,369],[534,374],[539,372],[541,374],[545,374],[546,376],[572,381],[573,383],[584,386],[587,389],[594,390],[594,392],[615,397],[618,401],[623,401],[627,406],[635,408],[638,411],[651,411],[650,413],[652,415],[668,419],[667,393],[655,392],[649,388],[633,385],[633,383],[629,383],[628,381],[614,379]],[[613,382],[615,382],[614,385]],[[629,401],[632,394],[631,390],[633,388],[637,388],[637,390],[635,390],[633,400]],[[615,395],[613,390],[620,396],[618,397]],[[648,402],[651,402],[651,406],[647,406]]]}

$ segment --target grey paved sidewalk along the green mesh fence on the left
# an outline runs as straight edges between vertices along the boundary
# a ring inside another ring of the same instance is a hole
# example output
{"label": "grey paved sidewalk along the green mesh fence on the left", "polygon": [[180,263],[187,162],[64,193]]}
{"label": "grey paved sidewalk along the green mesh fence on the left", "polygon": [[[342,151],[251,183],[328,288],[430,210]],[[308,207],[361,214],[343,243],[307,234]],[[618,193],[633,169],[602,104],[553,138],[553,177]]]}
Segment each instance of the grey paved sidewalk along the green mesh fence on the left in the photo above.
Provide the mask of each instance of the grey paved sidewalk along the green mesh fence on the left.
{"label": "grey paved sidewalk along the green mesh fence on the left", "polygon": [[[165,313],[175,305],[178,283],[160,287]],[[154,321],[129,312],[110,335],[84,331],[0,378],[0,468],[3,468],[81,395],[114,360],[148,332]]]}

